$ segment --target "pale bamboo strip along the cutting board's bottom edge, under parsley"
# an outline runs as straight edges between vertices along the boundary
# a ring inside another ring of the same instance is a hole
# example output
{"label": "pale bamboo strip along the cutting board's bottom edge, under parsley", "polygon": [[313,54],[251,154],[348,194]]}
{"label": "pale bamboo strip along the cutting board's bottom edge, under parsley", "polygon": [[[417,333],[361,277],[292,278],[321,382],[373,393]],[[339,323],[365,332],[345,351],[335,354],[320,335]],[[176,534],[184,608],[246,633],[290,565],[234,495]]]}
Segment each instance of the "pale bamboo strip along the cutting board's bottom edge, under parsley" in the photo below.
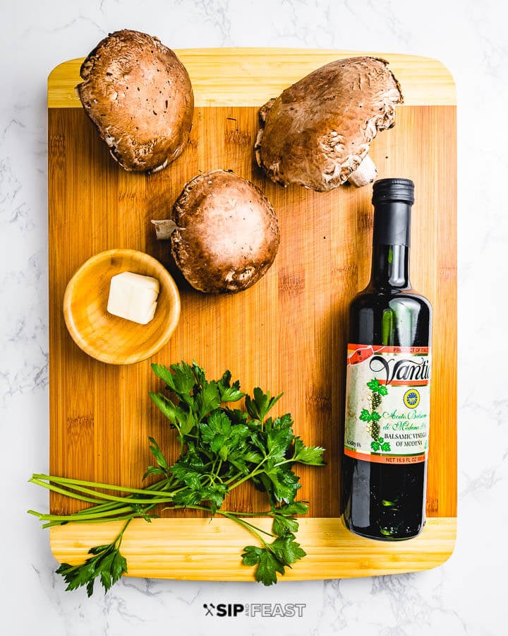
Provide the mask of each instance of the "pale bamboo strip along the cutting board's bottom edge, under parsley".
{"label": "pale bamboo strip along the cutting board's bottom edge, under parsley", "polygon": [[[355,536],[342,519],[299,519],[298,542],[307,556],[280,580],[335,579],[430,570],[452,555],[456,517],[430,517],[410,541],[372,541]],[[59,563],[77,565],[92,546],[111,542],[123,522],[67,524],[50,529],[50,545]],[[258,519],[270,528],[270,519]],[[196,538],[200,537],[200,542]],[[135,519],[123,535],[121,552],[128,576],[209,581],[250,581],[253,567],[241,563],[253,538],[229,519]]]}

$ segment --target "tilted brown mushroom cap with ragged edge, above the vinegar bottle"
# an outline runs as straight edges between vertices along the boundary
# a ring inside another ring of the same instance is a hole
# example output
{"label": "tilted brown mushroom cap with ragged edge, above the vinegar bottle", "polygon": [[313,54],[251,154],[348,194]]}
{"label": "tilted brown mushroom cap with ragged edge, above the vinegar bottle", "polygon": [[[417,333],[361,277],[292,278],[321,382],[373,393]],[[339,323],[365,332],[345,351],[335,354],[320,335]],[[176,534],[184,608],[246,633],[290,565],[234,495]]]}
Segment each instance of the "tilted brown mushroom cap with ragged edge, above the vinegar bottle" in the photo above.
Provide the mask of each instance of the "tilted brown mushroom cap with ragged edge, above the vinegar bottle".
{"label": "tilted brown mushroom cap with ragged edge, above the vinegar bottle", "polygon": [[333,189],[360,165],[377,131],[394,125],[402,100],[383,59],[325,64],[261,108],[258,164],[276,183]]}

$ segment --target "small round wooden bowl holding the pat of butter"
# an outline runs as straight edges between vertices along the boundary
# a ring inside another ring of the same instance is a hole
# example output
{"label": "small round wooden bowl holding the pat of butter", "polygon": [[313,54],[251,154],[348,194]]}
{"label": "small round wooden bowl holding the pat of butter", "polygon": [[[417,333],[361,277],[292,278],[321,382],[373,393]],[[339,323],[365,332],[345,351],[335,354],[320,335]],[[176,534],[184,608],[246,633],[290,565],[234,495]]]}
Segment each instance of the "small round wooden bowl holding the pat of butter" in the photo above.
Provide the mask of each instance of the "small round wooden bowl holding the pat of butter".
{"label": "small round wooden bowl holding the pat of butter", "polygon": [[[107,312],[111,277],[122,271],[159,281],[157,310],[148,324]],[[173,334],[180,317],[179,290],[167,269],[148,254],[109,249],[88,259],[68,282],[63,316],[69,334],[85,353],[110,365],[131,365],[157,353]]]}

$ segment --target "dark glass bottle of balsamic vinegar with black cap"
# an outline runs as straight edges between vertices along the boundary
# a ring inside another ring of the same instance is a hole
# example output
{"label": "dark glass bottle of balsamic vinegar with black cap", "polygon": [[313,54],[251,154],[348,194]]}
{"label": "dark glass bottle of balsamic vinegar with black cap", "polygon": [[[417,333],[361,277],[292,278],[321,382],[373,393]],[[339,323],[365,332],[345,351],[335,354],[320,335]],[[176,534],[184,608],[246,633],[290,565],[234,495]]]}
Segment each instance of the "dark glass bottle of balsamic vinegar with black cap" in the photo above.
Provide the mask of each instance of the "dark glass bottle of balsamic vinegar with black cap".
{"label": "dark glass bottle of balsamic vinegar with black cap", "polygon": [[344,522],[387,541],[425,524],[432,309],[409,283],[413,192],[375,182],[370,283],[349,308]]}

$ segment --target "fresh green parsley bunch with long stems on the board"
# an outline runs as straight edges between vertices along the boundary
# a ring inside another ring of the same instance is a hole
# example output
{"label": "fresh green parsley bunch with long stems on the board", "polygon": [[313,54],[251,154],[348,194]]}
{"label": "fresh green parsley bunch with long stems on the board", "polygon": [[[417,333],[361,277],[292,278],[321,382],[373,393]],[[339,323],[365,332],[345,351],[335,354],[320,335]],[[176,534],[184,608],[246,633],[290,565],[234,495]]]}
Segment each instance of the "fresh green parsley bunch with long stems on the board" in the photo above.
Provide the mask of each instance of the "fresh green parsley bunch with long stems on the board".
{"label": "fresh green parsley bunch with long stems on the board", "polygon": [[[293,466],[324,465],[324,449],[306,446],[294,435],[289,414],[268,416],[282,395],[272,397],[270,392],[265,394],[256,387],[253,396],[249,396],[241,391],[238,380],[231,382],[231,372],[224,372],[218,380],[207,380],[205,371],[196,363],[182,362],[169,368],[152,365],[152,370],[162,379],[166,391],[151,393],[150,397],[168,418],[171,428],[176,429],[180,444],[179,459],[169,465],[155,439],[149,438],[155,465],[148,466],[143,479],[158,476],[158,481],[145,488],[123,488],[47,475],[33,475],[30,480],[92,504],[69,515],[30,510],[47,522],[43,527],[70,521],[125,521],[111,544],[89,550],[92,556],[85,563],[63,563],[59,567],[57,572],[65,578],[67,589],[85,585],[90,596],[94,581],[99,578],[107,591],[127,572],[120,544],[131,519],[142,517],[150,521],[157,516],[153,510],[160,504],[172,509],[205,510],[212,516],[221,514],[243,526],[259,542],[258,546],[244,548],[243,563],[257,566],[255,577],[265,585],[277,582],[277,572],[284,575],[285,567],[306,555],[295,533],[296,514],[306,514],[308,505],[295,500],[300,483]],[[235,403],[243,398],[245,407],[237,408]],[[267,510],[224,510],[227,494],[246,481],[266,493]],[[111,490],[126,494],[112,495],[108,492]],[[272,532],[255,526],[250,521],[255,517],[272,517]]]}

